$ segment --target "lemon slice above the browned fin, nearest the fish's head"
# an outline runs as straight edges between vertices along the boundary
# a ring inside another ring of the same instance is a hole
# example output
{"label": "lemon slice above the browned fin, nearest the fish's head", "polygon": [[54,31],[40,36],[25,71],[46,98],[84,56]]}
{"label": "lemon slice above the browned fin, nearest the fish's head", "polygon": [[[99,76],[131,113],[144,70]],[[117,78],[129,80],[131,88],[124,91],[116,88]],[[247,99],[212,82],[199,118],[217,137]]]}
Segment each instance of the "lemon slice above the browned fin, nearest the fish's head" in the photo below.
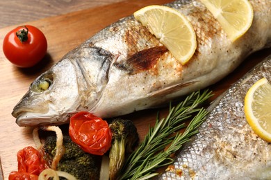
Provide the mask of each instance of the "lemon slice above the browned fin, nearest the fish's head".
{"label": "lemon slice above the browned fin, nearest the fish's head", "polygon": [[133,15],[181,64],[186,64],[195,53],[197,48],[195,31],[180,12],[167,6],[147,6]]}

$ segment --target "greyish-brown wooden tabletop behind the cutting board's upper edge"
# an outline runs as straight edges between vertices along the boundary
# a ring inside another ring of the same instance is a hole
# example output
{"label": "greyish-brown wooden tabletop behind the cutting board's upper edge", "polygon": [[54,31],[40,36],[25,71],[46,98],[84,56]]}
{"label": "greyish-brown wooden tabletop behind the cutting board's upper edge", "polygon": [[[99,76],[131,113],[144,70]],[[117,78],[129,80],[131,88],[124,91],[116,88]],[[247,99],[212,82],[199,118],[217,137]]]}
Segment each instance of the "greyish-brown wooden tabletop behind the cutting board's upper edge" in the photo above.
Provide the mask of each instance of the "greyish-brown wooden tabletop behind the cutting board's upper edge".
{"label": "greyish-brown wooden tabletop behind the cutting board's upper edge", "polygon": [[0,28],[44,17],[105,6],[125,0],[9,0],[0,1]]}

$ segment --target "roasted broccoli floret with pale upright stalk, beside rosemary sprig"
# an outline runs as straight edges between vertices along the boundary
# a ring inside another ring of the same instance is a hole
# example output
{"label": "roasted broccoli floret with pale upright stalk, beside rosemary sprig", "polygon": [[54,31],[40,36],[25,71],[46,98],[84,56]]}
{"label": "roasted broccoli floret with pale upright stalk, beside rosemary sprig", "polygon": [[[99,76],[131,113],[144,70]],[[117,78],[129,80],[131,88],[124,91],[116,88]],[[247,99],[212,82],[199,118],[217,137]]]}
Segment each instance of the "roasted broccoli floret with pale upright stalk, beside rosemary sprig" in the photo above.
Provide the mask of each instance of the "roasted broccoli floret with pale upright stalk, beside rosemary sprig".
{"label": "roasted broccoli floret with pale upright stalk, beside rosemary sprig", "polygon": [[131,120],[114,119],[109,125],[113,132],[112,146],[109,152],[109,177],[117,179],[125,159],[138,145],[138,132]]}

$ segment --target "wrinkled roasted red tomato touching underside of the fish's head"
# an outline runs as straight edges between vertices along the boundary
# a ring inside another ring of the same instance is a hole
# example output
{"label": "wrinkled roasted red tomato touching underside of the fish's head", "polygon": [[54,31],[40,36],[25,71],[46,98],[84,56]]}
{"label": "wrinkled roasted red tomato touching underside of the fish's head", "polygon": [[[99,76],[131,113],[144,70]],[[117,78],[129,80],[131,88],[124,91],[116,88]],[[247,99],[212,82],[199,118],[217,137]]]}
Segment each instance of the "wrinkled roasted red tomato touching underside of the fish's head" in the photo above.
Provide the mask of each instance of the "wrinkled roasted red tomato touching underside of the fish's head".
{"label": "wrinkled roasted red tomato touching underside of the fish's head", "polygon": [[104,155],[111,147],[112,132],[106,120],[85,111],[70,118],[69,136],[90,154]]}

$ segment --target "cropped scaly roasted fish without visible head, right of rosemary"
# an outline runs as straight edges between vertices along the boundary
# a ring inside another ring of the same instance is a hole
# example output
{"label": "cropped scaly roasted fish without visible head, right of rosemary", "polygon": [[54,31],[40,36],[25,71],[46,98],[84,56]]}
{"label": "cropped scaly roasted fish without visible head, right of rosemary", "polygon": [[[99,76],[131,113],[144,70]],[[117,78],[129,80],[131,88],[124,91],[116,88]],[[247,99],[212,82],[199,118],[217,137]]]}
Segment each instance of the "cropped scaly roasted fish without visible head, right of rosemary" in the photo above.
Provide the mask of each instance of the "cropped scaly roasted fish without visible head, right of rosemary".
{"label": "cropped scaly roasted fish without visible head, right of rosemary", "polygon": [[245,94],[261,78],[271,82],[271,55],[208,107],[199,133],[161,179],[271,179],[271,144],[254,134],[244,114]]}

